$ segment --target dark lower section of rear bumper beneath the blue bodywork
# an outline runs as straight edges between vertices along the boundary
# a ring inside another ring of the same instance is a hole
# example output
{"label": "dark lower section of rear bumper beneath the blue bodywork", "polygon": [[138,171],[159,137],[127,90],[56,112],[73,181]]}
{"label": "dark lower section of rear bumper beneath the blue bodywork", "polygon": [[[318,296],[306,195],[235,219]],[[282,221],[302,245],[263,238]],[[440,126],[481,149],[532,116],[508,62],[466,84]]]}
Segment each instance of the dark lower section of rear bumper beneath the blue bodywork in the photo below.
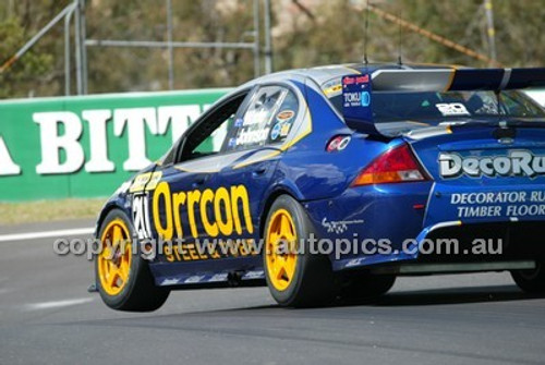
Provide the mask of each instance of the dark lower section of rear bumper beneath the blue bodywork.
{"label": "dark lower section of rear bumper beneath the blue bodywork", "polygon": [[401,251],[341,258],[334,267],[401,275],[532,269],[545,259],[543,227],[545,221],[438,223],[424,229]]}

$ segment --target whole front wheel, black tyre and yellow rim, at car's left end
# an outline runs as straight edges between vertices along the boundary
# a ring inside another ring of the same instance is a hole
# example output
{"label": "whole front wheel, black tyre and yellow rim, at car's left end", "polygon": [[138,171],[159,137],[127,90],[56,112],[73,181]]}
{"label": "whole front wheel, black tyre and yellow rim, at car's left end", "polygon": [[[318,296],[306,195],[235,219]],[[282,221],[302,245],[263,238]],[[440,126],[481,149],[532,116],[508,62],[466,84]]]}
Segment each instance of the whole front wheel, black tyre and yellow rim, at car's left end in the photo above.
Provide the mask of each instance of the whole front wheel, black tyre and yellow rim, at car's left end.
{"label": "whole front wheel, black tyre and yellow rim, at car's left end", "polygon": [[[95,256],[95,280],[100,297],[117,311],[152,312],[158,309],[170,290],[156,287],[147,260],[142,258],[134,227],[121,210],[111,210],[99,229],[102,250]],[[110,240],[110,246],[106,244]],[[123,241],[125,244],[123,244]]]}

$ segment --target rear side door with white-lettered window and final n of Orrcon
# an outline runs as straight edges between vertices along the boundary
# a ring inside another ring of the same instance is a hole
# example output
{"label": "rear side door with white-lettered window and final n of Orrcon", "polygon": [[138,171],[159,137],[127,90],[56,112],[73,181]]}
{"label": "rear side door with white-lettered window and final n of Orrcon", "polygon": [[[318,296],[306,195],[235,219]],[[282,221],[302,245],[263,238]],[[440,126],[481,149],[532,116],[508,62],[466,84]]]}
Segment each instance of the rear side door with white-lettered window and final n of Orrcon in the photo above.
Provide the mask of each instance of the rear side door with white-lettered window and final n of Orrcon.
{"label": "rear side door with white-lettered window and final n of Orrcon", "polygon": [[217,180],[222,186],[237,188],[244,197],[232,202],[232,216],[234,236],[252,240],[245,243],[253,255],[242,257],[246,259],[239,263],[245,267],[262,266],[261,257],[255,255],[261,250],[259,215],[282,154],[281,147],[298,119],[299,105],[298,96],[287,86],[261,86],[226,137],[223,154],[238,158],[219,171]]}

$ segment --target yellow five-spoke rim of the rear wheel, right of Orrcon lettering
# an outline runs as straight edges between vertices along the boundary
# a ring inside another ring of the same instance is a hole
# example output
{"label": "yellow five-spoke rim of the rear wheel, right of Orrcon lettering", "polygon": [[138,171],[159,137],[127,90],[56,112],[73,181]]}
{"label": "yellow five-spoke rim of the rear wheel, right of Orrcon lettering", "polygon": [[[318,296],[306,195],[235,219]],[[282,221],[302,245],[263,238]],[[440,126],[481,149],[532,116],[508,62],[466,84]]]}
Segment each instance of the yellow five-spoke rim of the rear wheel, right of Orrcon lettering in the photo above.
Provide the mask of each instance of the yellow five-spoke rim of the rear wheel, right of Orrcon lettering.
{"label": "yellow five-spoke rim of the rear wheel, right of Orrcon lettering", "polygon": [[267,227],[265,259],[270,283],[278,291],[288,289],[298,264],[296,231],[286,209],[274,212]]}

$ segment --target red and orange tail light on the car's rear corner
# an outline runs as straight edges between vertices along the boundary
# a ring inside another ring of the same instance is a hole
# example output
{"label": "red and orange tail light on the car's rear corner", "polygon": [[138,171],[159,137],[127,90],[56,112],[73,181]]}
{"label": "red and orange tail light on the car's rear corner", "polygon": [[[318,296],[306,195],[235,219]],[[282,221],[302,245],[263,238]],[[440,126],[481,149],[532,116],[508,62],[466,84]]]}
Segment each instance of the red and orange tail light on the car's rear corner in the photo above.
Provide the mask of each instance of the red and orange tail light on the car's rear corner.
{"label": "red and orange tail light on the car's rear corner", "polygon": [[428,180],[409,145],[378,156],[355,178],[352,186]]}

